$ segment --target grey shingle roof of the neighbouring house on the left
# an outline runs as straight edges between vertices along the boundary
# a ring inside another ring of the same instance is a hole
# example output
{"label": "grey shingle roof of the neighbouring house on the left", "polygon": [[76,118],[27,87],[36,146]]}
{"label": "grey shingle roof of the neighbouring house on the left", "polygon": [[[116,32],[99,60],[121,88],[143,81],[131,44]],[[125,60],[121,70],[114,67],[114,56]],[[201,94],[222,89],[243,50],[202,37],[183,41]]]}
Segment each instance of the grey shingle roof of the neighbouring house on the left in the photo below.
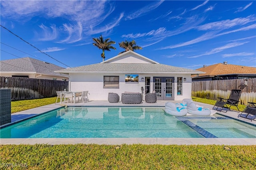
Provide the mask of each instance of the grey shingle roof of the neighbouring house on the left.
{"label": "grey shingle roof of the neighbouring house on the left", "polygon": [[64,69],[64,67],[60,67],[58,65],[30,57],[8,59],[2,60],[0,62],[0,71],[3,73],[39,73],[45,75],[58,75],[62,77],[68,77],[68,75],[54,72],[55,70],[60,69]]}

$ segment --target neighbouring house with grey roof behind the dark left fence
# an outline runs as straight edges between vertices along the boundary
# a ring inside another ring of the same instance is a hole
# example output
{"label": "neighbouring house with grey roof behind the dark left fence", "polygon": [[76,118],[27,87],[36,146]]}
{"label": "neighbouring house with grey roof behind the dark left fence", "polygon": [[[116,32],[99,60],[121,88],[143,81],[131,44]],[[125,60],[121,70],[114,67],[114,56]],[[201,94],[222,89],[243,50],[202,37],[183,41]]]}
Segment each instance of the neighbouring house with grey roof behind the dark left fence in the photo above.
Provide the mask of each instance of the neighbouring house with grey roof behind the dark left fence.
{"label": "neighbouring house with grey roof behind the dark left fence", "polygon": [[67,74],[54,72],[60,69],[64,68],[30,57],[8,59],[0,62],[0,76],[3,77],[27,77],[68,81],[69,77]]}

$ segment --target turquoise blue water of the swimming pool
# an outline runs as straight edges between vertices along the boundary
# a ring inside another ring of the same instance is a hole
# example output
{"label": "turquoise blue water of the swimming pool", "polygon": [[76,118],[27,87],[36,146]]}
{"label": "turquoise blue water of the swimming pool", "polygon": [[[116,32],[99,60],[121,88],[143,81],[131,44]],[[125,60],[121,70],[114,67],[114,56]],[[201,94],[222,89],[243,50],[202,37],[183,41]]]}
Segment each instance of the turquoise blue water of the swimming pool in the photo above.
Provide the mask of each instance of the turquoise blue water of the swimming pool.
{"label": "turquoise blue water of the swimming pool", "polygon": [[1,138],[256,138],[256,127],[215,114],[173,117],[163,107],[68,107],[1,128]]}

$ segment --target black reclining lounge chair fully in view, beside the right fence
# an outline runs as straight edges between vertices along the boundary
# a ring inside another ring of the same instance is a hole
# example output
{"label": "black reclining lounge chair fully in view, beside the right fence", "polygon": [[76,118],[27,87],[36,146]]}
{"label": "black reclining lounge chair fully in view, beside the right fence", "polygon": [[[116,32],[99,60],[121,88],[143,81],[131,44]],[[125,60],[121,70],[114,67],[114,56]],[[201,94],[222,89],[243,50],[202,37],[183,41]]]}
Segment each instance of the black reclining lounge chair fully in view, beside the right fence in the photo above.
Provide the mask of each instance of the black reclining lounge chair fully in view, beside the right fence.
{"label": "black reclining lounge chair fully in view, beside the right fence", "polygon": [[[218,100],[216,101],[212,109],[216,111],[222,111],[222,112],[227,112],[228,110],[231,111],[230,109],[231,106],[236,106],[236,108],[238,109],[238,102],[241,96],[241,92],[242,90],[240,89],[231,90],[230,96],[228,99],[223,99],[221,97],[218,97]],[[228,105],[230,106],[228,107]],[[218,110],[218,108],[220,109]],[[238,109],[238,112],[240,112],[239,109]]]}

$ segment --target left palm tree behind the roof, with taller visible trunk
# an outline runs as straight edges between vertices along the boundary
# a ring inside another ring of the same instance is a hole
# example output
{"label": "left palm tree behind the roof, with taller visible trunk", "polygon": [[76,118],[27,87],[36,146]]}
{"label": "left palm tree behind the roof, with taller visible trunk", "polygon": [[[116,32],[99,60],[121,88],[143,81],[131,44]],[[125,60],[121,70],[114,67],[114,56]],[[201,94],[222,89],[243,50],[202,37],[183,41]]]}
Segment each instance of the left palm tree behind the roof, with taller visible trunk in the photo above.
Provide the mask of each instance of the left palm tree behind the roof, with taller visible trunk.
{"label": "left palm tree behind the roof, with taller visible trunk", "polygon": [[102,61],[104,61],[105,59],[105,50],[106,51],[110,51],[110,49],[116,50],[116,48],[112,46],[112,44],[116,44],[116,42],[109,41],[110,38],[107,38],[104,40],[102,35],[100,35],[100,38],[92,38],[92,40],[95,42],[95,43],[92,43],[94,46],[98,47],[99,49],[102,49],[102,53],[101,53]]}

